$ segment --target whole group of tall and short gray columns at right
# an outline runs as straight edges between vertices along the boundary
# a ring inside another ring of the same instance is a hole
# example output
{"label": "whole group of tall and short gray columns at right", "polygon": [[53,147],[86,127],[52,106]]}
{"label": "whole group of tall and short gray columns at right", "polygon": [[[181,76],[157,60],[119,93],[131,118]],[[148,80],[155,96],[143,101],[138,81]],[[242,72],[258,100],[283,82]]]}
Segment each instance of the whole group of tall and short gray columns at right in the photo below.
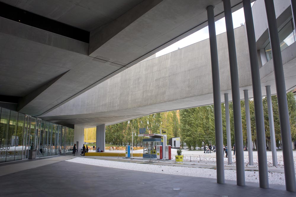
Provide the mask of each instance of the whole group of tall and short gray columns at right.
{"label": "whole group of tall and short gray columns at right", "polygon": [[[292,4],[292,12],[294,16],[294,6]],[[294,2],[295,4],[295,2]],[[242,138],[242,116],[240,105],[240,93],[239,93],[239,78],[237,69],[236,48],[234,40],[234,30],[232,23],[232,13],[230,0],[223,0],[224,14],[226,22],[226,34],[228,42],[229,52],[229,65],[230,65],[230,77],[231,77],[231,93],[233,101],[233,113],[234,113],[234,138],[236,146],[236,172],[237,172],[237,185],[245,185],[244,174],[244,153],[243,153],[243,138]],[[295,181],[295,169],[292,152],[292,139],[289,123],[289,113],[287,105],[286,87],[284,81],[284,71],[281,59],[281,50],[279,45],[279,36],[276,25],[276,16],[274,11],[274,3],[270,0],[265,0],[266,14],[268,20],[268,31],[271,42],[271,50],[274,61],[274,74],[276,81],[276,91],[279,105],[279,119],[281,128],[281,140],[283,146],[283,158],[284,158],[284,172],[287,191],[296,191]],[[258,152],[258,168],[259,168],[259,185],[260,188],[268,188],[268,168],[267,168],[267,155],[266,155],[266,138],[265,138],[265,126],[263,116],[262,105],[262,92],[260,83],[260,72],[258,65],[258,56],[255,40],[254,22],[252,17],[252,8],[250,0],[243,0],[245,25],[247,30],[247,41],[250,54],[250,66],[252,76],[252,88],[253,98],[255,105],[255,123],[256,123],[256,136],[257,136],[257,152]],[[222,133],[222,115],[221,115],[221,96],[220,96],[220,76],[218,65],[218,52],[217,41],[215,32],[215,18],[214,18],[214,6],[207,6],[208,28],[209,28],[209,40],[210,40],[210,53],[211,53],[211,66],[212,66],[212,80],[213,80],[213,98],[214,98],[214,114],[215,114],[215,137],[216,137],[216,161],[217,161],[217,183],[224,183],[224,158],[223,158],[223,133]],[[295,23],[295,18],[294,23]],[[277,165],[276,151],[275,151],[275,137],[274,137],[274,124],[271,105],[270,86],[266,86],[266,94],[268,100],[268,115],[269,124],[271,128],[271,149],[273,154],[274,165]],[[224,95],[225,107],[226,107],[226,135],[227,144],[230,147],[230,124],[229,124],[229,105],[228,94]],[[246,107],[246,119],[247,119],[247,139],[249,149],[249,162],[253,165],[252,158],[252,135],[250,129],[250,110],[249,110],[249,98],[247,90],[244,90],[244,99]],[[231,148],[229,149],[231,150]],[[231,156],[231,154],[229,154]],[[231,163],[231,158],[228,160]]]}

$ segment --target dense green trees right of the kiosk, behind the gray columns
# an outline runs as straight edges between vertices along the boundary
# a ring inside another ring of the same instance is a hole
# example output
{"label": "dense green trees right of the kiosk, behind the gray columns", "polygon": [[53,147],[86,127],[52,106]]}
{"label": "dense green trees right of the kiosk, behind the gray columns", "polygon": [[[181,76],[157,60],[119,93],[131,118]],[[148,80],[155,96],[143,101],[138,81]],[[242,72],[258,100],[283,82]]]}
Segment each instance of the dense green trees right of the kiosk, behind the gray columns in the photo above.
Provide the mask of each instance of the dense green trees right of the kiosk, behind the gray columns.
{"label": "dense green trees right of the kiosk, behind the gray columns", "polygon": [[[287,101],[288,101],[288,108],[289,108],[292,141],[295,141],[296,140],[296,105],[295,105],[294,94],[292,92],[287,93]],[[267,142],[268,148],[271,149],[267,98],[264,97],[262,102],[263,102],[266,142]],[[255,144],[255,148],[257,148],[254,101],[249,100],[249,105],[250,105],[252,143]],[[281,140],[281,131],[280,131],[280,124],[279,124],[279,110],[278,110],[276,96],[272,96],[272,107],[273,107],[273,113],[274,113],[274,129],[275,129],[275,137],[277,142],[276,145],[280,146],[279,141]],[[222,110],[223,141],[224,141],[224,144],[227,144],[224,103],[221,104],[221,110]],[[243,141],[244,141],[244,144],[247,146],[247,124],[246,124],[244,100],[241,101],[241,112],[242,112]],[[229,103],[229,114],[230,114],[230,131],[231,131],[231,142],[232,142],[231,145],[233,145],[234,144],[234,121],[233,121],[232,102]],[[187,146],[193,147],[193,149],[195,149],[195,146],[201,147],[202,143],[215,144],[215,122],[214,122],[214,106],[213,105],[180,110],[180,121],[181,121],[180,122],[181,137]]]}

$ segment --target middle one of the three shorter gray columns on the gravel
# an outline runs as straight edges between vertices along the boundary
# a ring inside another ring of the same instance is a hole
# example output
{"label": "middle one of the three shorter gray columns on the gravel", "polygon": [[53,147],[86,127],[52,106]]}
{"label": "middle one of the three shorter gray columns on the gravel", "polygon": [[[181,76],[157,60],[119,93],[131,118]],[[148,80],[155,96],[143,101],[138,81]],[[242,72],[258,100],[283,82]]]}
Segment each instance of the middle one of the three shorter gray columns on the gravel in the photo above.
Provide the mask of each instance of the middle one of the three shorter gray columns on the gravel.
{"label": "middle one of the three shorter gray columns on the gravel", "polygon": [[251,119],[250,119],[249,95],[248,95],[248,90],[247,89],[244,90],[244,107],[245,107],[245,110],[246,110],[249,165],[254,165],[253,164],[253,146],[252,146],[252,133],[251,133]]}

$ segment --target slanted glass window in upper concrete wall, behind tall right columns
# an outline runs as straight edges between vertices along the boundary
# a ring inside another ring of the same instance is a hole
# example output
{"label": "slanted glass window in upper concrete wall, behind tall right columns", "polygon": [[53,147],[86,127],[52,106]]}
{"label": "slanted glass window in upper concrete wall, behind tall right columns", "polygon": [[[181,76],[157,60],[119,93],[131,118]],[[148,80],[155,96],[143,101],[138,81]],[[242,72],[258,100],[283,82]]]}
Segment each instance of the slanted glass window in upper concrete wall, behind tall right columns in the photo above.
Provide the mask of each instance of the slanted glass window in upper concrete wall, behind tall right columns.
{"label": "slanted glass window in upper concrete wall, behind tall right columns", "polygon": [[[293,19],[289,20],[281,30],[279,30],[279,43],[281,46],[281,51],[283,51],[285,48],[290,46],[292,43],[296,41],[296,35],[295,35],[295,27],[293,25]],[[268,38],[268,44],[264,48],[266,59],[267,61],[271,60],[272,54],[271,54],[271,46],[270,41]]]}

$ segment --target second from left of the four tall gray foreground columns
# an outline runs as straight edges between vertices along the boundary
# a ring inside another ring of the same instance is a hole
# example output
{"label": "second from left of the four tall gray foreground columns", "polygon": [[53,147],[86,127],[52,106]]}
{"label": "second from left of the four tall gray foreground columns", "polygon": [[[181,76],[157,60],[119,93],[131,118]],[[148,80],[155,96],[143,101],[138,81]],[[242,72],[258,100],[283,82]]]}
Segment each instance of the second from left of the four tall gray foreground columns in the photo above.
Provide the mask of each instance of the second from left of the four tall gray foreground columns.
{"label": "second from left of the four tall gray foreground columns", "polygon": [[[223,0],[223,5],[226,22],[226,34],[230,66],[235,150],[237,152],[237,155],[235,156],[237,168],[237,185],[245,185],[246,183],[244,177],[244,142],[242,138],[242,113],[239,95],[239,75],[237,71],[237,55],[235,48],[230,0]],[[228,147],[230,147],[231,150],[231,144],[228,144],[227,142],[227,145]]]}

